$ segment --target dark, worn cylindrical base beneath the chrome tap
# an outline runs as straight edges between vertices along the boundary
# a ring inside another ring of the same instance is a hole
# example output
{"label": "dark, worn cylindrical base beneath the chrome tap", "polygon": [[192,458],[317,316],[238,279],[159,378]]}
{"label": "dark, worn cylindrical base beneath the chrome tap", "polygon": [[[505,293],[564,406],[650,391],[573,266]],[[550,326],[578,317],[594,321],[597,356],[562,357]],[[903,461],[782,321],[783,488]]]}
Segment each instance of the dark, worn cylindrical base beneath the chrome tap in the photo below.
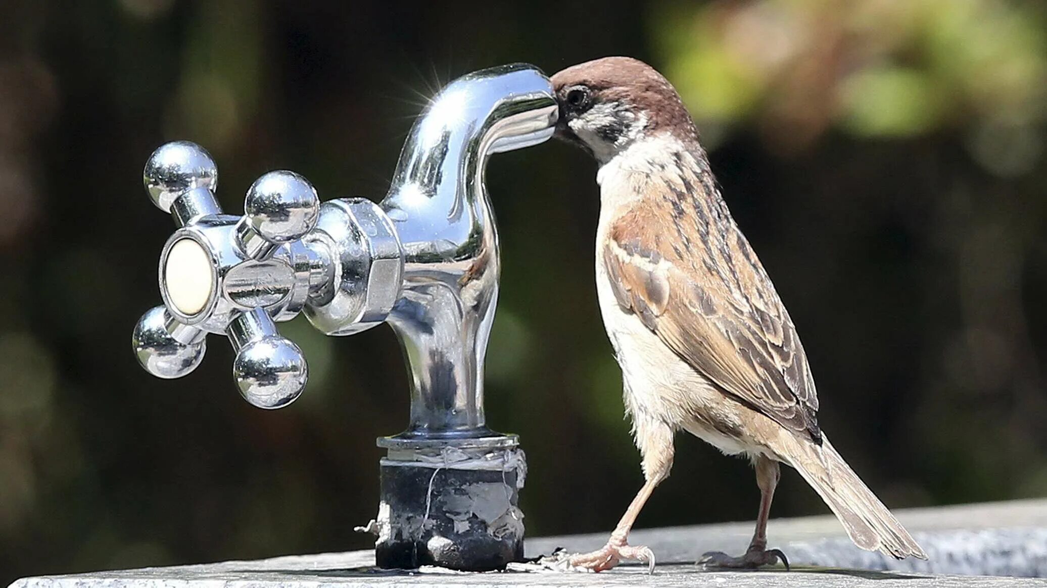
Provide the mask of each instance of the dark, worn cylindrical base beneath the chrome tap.
{"label": "dark, worn cylindrical base beneath the chrome tap", "polygon": [[527,462],[515,435],[397,442],[378,439],[388,448],[375,521],[379,567],[487,571],[522,560]]}

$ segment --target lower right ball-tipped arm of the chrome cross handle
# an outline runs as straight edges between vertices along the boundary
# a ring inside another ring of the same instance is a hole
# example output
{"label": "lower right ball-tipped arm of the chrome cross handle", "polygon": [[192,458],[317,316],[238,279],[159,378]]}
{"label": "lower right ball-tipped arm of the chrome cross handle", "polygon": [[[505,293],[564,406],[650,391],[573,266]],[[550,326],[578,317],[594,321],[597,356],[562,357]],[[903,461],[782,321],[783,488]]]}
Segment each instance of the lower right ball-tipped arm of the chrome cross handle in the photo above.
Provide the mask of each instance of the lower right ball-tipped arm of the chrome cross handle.
{"label": "lower right ball-tipped arm of the chrome cross handle", "polygon": [[244,400],[259,408],[281,408],[302,394],[309,379],[306,357],[280,335],[264,309],[240,313],[226,335],[237,352],[232,378]]}

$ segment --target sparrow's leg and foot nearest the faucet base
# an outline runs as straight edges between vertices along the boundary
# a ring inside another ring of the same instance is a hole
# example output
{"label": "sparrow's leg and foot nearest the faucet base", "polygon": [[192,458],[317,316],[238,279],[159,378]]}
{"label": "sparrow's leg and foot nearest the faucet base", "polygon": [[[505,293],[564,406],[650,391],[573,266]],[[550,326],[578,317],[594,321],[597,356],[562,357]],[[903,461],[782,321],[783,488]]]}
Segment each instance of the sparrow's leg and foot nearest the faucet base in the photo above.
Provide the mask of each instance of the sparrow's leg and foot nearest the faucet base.
{"label": "sparrow's leg and foot nearest the faucet base", "polygon": [[622,560],[639,560],[647,564],[651,573],[654,572],[654,552],[649,547],[629,545],[629,530],[632,529],[632,524],[654,492],[654,488],[669,477],[669,470],[672,468],[673,431],[662,422],[648,421],[640,415],[634,417],[634,425],[637,445],[640,446],[640,452],[644,457],[644,477],[647,481],[629,503],[629,507],[622,515],[622,520],[618,521],[618,526],[607,539],[607,544],[596,551],[572,556],[569,563],[574,567],[603,571],[617,566]]}

